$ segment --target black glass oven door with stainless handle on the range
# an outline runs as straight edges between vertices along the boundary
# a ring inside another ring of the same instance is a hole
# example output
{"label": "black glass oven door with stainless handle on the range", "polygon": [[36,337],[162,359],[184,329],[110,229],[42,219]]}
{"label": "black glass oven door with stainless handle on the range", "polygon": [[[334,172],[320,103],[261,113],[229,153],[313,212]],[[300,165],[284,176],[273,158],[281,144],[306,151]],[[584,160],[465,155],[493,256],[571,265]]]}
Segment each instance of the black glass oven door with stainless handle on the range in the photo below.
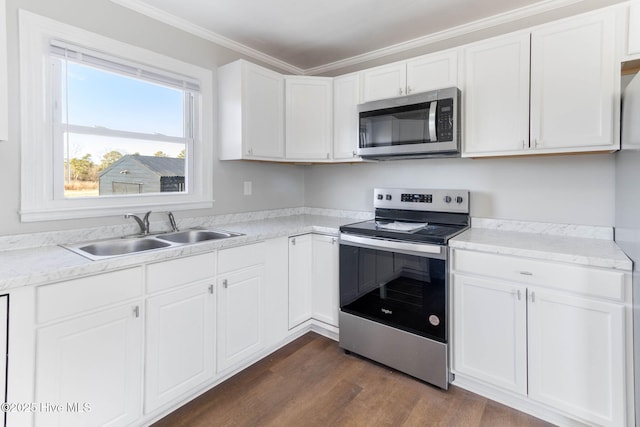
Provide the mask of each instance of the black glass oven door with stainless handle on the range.
{"label": "black glass oven door with stainless handle on the range", "polygon": [[340,309],[447,342],[446,246],[341,234]]}

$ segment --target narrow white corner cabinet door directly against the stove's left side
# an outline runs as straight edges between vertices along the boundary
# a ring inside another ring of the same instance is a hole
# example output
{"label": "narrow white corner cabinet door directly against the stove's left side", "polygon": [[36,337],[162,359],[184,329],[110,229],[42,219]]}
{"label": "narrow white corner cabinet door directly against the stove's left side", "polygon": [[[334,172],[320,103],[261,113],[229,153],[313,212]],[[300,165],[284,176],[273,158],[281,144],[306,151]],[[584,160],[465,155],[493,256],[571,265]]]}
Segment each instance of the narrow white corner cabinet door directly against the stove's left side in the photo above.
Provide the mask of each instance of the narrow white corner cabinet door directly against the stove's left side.
{"label": "narrow white corner cabinet door directly against the stove's left side", "polygon": [[338,327],[338,238],[313,235],[313,318]]}

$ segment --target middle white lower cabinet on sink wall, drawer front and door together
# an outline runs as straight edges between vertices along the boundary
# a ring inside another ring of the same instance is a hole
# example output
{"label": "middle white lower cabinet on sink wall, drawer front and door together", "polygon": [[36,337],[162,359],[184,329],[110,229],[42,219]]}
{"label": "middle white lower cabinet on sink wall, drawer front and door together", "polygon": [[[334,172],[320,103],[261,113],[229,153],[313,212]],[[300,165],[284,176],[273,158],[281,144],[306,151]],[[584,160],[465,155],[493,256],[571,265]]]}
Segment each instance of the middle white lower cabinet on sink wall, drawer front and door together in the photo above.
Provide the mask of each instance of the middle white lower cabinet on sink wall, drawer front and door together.
{"label": "middle white lower cabinet on sink wall, drawer front and door together", "polygon": [[144,412],[211,380],[215,253],[147,266]]}

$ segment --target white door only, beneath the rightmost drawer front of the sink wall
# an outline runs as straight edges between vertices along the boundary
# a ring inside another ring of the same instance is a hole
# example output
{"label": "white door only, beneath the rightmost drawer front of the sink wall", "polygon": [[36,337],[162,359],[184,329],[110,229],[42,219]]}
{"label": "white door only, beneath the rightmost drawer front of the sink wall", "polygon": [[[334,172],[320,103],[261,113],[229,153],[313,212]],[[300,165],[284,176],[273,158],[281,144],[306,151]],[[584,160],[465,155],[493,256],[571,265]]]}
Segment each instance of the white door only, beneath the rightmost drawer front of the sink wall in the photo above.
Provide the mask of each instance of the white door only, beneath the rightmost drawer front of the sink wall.
{"label": "white door only, beneath the rightmost drawer front of the sink wall", "polygon": [[264,347],[264,265],[218,278],[218,372]]}

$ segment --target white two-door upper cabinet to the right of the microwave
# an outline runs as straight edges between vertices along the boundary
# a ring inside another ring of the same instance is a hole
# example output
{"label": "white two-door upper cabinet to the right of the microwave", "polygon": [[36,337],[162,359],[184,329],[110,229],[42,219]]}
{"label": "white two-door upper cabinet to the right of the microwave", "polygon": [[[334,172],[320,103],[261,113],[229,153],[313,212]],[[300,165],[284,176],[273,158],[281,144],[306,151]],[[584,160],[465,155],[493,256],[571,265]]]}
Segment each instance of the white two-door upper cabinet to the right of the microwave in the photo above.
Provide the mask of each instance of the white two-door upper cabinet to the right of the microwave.
{"label": "white two-door upper cabinet to the right of the microwave", "polygon": [[609,9],[464,48],[463,156],[618,149],[614,22]]}

